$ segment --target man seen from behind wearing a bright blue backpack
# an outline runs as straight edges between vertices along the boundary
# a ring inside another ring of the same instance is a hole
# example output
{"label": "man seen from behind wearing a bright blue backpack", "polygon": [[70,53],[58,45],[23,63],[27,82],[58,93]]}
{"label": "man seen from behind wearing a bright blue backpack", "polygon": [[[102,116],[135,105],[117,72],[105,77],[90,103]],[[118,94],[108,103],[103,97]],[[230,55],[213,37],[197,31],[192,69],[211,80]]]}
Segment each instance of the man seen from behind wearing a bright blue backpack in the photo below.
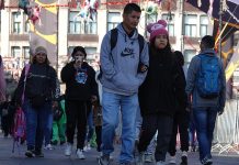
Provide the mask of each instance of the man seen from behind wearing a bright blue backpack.
{"label": "man seen from behind wearing a bright blue backpack", "polygon": [[[205,35],[200,44],[201,52],[191,61],[186,94],[192,103],[196,135],[200,146],[200,161],[213,164],[210,148],[217,113],[221,114],[226,101],[226,80],[224,66],[214,51],[215,40]],[[192,105],[192,106],[191,106]]]}

